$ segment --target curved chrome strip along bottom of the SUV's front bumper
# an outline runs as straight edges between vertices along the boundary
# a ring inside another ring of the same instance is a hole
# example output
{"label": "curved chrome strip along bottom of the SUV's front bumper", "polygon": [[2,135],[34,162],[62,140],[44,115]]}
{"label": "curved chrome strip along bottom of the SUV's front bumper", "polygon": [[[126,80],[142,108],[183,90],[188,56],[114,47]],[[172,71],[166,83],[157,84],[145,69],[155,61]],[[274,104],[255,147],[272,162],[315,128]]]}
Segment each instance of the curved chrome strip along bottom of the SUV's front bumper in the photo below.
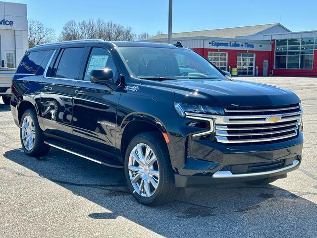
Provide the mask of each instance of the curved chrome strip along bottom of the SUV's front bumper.
{"label": "curved chrome strip along bottom of the SUV's front bumper", "polygon": [[230,179],[230,178],[246,178],[246,177],[254,177],[254,176],[262,176],[262,175],[270,175],[279,172],[283,172],[285,170],[292,169],[299,165],[299,160],[294,160],[293,164],[285,166],[283,168],[277,170],[270,170],[264,172],[257,172],[257,173],[246,173],[246,174],[239,174],[233,175],[230,171],[217,171],[212,175],[212,179]]}

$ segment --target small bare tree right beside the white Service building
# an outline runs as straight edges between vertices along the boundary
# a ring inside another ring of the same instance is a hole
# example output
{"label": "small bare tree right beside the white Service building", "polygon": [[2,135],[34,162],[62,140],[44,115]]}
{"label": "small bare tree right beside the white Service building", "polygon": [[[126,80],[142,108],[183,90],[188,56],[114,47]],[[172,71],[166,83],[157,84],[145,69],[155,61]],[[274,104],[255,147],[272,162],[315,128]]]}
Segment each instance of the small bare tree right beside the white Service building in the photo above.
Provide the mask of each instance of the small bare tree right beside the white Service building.
{"label": "small bare tree right beside the white Service building", "polygon": [[55,40],[55,31],[52,28],[44,26],[40,21],[29,20],[29,48],[40,44],[50,43]]}

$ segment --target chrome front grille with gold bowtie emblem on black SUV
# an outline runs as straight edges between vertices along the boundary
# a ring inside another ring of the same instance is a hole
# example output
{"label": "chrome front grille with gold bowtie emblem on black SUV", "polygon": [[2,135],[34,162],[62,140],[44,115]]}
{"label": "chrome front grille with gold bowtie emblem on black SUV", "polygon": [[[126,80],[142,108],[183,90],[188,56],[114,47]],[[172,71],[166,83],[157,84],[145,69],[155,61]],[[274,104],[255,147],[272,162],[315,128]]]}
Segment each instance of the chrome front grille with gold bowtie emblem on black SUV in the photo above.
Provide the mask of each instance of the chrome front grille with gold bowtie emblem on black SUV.
{"label": "chrome front grille with gold bowtie emblem on black SUV", "polygon": [[229,107],[215,116],[215,138],[221,143],[261,143],[291,139],[302,119],[299,104],[276,107]]}

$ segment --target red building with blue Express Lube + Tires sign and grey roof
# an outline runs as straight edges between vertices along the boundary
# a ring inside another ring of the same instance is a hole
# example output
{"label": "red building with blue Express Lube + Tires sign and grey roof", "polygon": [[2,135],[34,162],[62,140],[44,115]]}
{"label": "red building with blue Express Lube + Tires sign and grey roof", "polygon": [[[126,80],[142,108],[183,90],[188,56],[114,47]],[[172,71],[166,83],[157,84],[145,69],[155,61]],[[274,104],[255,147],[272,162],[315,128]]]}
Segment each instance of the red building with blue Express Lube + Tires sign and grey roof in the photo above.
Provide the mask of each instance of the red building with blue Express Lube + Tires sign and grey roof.
{"label": "red building with blue Express Lube + Tires sign and grey roof", "polygon": [[[148,42],[167,43],[167,34]],[[317,31],[291,32],[281,24],[172,34],[222,70],[238,68],[241,76],[317,77]]]}

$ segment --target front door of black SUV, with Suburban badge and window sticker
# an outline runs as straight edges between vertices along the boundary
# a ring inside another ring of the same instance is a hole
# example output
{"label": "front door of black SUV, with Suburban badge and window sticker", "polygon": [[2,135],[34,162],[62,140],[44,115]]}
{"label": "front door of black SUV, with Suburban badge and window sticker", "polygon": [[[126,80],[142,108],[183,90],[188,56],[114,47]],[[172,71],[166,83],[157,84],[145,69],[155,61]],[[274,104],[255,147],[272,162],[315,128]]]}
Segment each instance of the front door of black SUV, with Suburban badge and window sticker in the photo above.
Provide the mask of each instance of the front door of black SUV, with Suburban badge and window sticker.
{"label": "front door of black SUV, with Suburban badge and window sticker", "polygon": [[120,93],[106,85],[90,82],[92,69],[110,68],[114,81],[119,73],[105,48],[92,47],[85,66],[83,80],[75,85],[73,107],[74,140],[91,149],[113,152],[117,133],[116,112]]}

